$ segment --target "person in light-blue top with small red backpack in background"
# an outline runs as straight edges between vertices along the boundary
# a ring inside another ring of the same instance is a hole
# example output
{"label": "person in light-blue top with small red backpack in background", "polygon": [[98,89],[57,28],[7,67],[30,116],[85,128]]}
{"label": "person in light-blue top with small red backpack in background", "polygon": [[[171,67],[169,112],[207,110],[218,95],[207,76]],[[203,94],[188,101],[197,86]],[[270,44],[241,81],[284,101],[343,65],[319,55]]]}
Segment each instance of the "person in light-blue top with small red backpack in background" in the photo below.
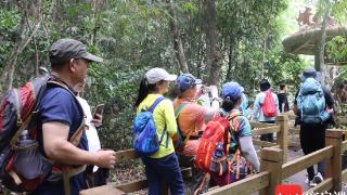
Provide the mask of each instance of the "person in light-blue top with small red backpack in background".
{"label": "person in light-blue top with small red backpack in background", "polygon": [[[267,79],[262,79],[259,86],[260,92],[256,95],[256,100],[254,102],[253,119],[254,121],[274,123],[275,115],[280,113],[278,95],[271,91],[271,84]],[[267,93],[271,94],[269,96],[270,99],[272,98],[272,105],[266,105]],[[265,109],[268,107],[272,107],[273,110],[275,110],[275,114],[272,116],[267,116]],[[261,134],[260,140],[273,142],[273,133]]]}

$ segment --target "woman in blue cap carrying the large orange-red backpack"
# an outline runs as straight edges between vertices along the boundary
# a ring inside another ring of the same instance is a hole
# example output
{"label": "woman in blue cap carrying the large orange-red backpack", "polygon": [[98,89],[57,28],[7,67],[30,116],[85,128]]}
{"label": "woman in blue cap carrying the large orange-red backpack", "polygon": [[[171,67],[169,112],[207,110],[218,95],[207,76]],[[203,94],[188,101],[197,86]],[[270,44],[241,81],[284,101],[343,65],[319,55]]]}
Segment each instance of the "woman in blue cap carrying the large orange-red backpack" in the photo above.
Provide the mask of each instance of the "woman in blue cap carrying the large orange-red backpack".
{"label": "woman in blue cap carrying the large orange-red backpack", "polygon": [[[253,145],[250,125],[248,119],[240,112],[242,94],[243,88],[237,82],[227,82],[222,86],[220,114],[222,116],[234,116],[231,119],[233,127],[231,127],[229,131],[231,132],[229,159],[232,160],[233,156],[240,151],[241,156],[250,164],[254,171],[259,172],[260,162]],[[237,126],[235,123],[237,123]],[[218,181],[217,178],[214,179]],[[223,184],[227,183],[222,183],[222,185]]]}

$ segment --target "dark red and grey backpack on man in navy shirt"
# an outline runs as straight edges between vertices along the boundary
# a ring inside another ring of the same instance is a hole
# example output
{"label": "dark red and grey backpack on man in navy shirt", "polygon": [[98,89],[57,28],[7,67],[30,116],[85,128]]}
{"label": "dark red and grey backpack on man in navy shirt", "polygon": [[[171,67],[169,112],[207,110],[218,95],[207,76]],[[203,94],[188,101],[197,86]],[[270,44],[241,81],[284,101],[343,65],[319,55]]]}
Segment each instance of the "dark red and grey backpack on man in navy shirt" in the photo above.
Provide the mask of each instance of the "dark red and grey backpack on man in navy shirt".
{"label": "dark red and grey backpack on man in navy shirt", "polygon": [[[55,77],[46,76],[8,91],[1,99],[0,180],[13,192],[36,190],[52,171],[53,162],[43,157],[37,141],[38,105],[48,86],[61,87],[70,92]],[[82,131],[77,131],[73,138],[80,139]]]}

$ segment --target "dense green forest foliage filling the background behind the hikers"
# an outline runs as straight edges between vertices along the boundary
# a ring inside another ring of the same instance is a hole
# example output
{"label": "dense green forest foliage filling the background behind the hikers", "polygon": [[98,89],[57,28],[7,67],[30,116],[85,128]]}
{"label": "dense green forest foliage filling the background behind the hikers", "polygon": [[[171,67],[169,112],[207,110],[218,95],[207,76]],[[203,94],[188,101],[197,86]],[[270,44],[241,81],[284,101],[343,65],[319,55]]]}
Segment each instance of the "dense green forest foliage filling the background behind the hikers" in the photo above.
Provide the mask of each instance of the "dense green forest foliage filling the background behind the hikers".
{"label": "dense green forest foliage filling the background behind the hikers", "polygon": [[[287,3],[287,0],[216,1],[222,81],[236,80],[252,95],[258,90],[260,65],[265,64],[265,77],[274,87],[280,82],[296,84],[297,75],[306,63],[281,48],[283,20],[286,18],[281,21],[280,16]],[[103,127],[99,131],[103,147],[131,147],[133,102],[144,73],[152,67],[179,72],[167,5],[163,1],[144,0],[98,0],[95,3],[43,0],[42,25],[34,37],[37,49],[31,40],[21,53],[14,86],[33,77],[36,52],[39,64],[49,67],[47,50],[52,42],[64,37],[81,40],[88,51],[105,60],[102,65],[90,65],[83,94],[92,108],[100,103],[106,105]],[[198,0],[174,1],[174,8],[189,69],[206,81],[208,43],[202,4]],[[11,2],[0,8],[1,72],[7,72],[3,65],[11,58],[17,25],[23,18],[21,9]],[[35,21],[34,13],[28,13],[30,25]],[[29,34],[27,26],[25,32]]]}

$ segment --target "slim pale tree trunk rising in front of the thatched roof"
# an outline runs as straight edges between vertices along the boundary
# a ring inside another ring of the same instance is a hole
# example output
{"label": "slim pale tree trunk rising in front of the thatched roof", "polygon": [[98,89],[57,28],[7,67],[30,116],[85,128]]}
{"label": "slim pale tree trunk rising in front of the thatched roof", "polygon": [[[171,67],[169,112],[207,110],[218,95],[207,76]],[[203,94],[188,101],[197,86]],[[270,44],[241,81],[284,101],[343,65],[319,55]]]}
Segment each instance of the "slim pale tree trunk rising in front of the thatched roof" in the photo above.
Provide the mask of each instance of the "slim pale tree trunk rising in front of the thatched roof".
{"label": "slim pale tree trunk rising in front of the thatched roof", "polygon": [[326,21],[327,21],[327,16],[330,13],[330,5],[331,5],[330,0],[325,0],[325,5],[326,8],[325,8],[324,18],[322,23],[322,28],[321,28],[322,37],[319,46],[319,69],[318,69],[322,74],[322,80],[321,80],[322,83],[324,83],[324,80],[325,80],[324,50],[325,50],[325,38],[326,38]]}

